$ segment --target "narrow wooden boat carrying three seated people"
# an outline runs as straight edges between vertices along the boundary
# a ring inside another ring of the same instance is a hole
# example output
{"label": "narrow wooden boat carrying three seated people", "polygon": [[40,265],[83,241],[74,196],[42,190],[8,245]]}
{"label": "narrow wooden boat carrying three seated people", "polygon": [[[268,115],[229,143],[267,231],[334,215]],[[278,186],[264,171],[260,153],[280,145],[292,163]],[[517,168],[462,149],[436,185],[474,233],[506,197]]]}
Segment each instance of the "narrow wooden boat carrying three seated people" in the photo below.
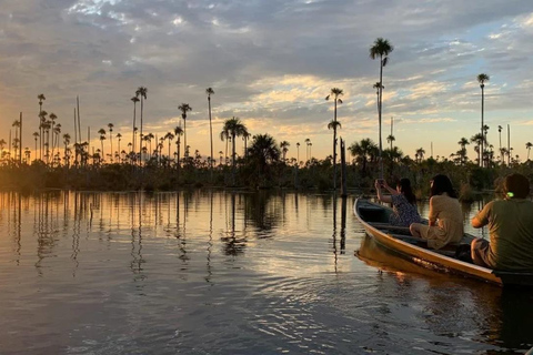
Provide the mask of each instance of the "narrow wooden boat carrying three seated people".
{"label": "narrow wooden boat carrying three seated people", "polygon": [[[430,250],[425,241],[411,236],[409,227],[392,226],[389,215],[392,210],[368,200],[358,199],[353,206],[366,235],[383,248],[386,255],[399,256],[424,268],[462,275],[496,285],[533,287],[533,273],[503,272],[474,265],[457,258],[460,245],[470,245],[474,236],[466,234],[455,245],[443,250]],[[386,263],[386,261],[385,261]]]}

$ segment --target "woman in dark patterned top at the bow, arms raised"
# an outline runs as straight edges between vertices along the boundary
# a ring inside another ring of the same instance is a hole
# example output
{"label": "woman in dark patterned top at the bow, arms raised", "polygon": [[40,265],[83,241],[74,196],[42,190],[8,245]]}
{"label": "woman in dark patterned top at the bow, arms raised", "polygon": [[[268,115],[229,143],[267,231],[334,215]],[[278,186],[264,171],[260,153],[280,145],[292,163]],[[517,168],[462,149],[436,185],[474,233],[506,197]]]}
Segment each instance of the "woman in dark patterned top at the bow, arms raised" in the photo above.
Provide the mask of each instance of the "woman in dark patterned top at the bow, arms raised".
{"label": "woman in dark patterned top at the bow, arms raised", "polygon": [[[409,179],[401,179],[396,183],[395,190],[389,186],[384,180],[376,180],[374,186],[378,192],[378,200],[392,203],[394,213],[391,213],[389,223],[398,226],[410,226],[411,223],[422,221],[416,210],[416,197],[411,189],[411,181]],[[389,191],[390,195],[383,195],[381,187]]]}

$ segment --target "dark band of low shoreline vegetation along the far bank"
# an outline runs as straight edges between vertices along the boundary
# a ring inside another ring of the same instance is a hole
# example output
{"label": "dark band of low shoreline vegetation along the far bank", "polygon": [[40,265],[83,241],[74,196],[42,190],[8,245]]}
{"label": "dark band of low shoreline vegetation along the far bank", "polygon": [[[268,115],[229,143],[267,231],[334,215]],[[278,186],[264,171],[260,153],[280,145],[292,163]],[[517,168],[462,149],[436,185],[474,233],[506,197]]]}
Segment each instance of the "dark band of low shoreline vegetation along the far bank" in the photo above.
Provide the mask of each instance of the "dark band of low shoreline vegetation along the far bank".
{"label": "dark band of low shoreline vegetation along the far bank", "polygon": [[[409,178],[419,200],[429,195],[429,181],[438,173],[450,176],[464,202],[477,200],[482,193],[497,193],[499,181],[511,172],[520,172],[530,181],[533,178],[531,161],[512,166],[480,168],[473,162],[457,165],[449,160],[432,158],[420,161],[408,158],[401,162],[386,161],[385,158],[383,165],[385,179],[391,185],[400,178]],[[376,155],[359,154],[344,168],[341,166],[341,171],[345,172],[348,191],[373,193],[373,181],[380,173]],[[303,166],[295,166],[283,161],[281,155],[261,160],[250,154],[238,159],[234,165],[219,164],[212,169],[201,156],[185,159],[183,164],[162,164],[152,158],[142,165],[125,162],[50,166],[41,161],[31,164],[3,161],[0,165],[0,189],[22,193],[50,189],[164,192],[199,187],[333,192],[339,190],[334,189],[334,174],[332,156],[311,159]],[[335,185],[340,186],[342,180],[342,174],[336,176]]]}

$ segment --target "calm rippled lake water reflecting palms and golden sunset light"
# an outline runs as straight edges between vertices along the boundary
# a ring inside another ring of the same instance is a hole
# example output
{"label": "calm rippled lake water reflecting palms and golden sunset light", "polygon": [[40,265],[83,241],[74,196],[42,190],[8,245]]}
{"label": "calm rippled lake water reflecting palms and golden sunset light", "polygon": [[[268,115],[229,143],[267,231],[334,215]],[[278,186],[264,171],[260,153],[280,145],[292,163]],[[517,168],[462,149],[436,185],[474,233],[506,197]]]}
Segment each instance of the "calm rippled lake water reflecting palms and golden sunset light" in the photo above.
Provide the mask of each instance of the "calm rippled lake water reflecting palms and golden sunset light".
{"label": "calm rippled lake water reflecting palms and golden sunset light", "polygon": [[[524,354],[533,346],[532,292],[354,256],[364,240],[354,199],[0,193],[0,354]],[[465,219],[479,207],[466,206]]]}

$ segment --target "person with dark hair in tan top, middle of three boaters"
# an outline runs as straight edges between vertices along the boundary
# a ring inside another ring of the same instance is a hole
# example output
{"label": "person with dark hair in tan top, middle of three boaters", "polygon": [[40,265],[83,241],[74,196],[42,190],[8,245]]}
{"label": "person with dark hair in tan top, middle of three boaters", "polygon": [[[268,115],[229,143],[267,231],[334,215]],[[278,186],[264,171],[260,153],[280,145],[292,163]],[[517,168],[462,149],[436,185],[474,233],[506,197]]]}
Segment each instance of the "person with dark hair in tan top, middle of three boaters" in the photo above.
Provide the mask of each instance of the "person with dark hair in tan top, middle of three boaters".
{"label": "person with dark hair in tan top, middle of three boaters", "polygon": [[413,223],[409,230],[413,236],[428,241],[431,248],[457,243],[464,234],[463,213],[450,178],[443,174],[431,180],[429,224]]}

